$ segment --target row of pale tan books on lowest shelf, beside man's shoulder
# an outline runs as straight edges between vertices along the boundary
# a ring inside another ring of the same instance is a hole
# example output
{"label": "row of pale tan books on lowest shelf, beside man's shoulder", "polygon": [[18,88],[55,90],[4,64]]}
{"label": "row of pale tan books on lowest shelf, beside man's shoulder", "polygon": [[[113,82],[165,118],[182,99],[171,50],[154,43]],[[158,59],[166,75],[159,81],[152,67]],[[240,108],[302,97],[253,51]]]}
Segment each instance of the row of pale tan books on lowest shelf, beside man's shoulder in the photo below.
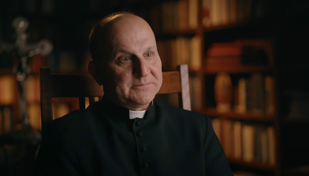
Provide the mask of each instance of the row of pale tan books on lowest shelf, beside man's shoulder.
{"label": "row of pale tan books on lowest shelf, beside man's shoulder", "polygon": [[212,119],[214,131],[227,158],[274,166],[276,140],[273,126]]}

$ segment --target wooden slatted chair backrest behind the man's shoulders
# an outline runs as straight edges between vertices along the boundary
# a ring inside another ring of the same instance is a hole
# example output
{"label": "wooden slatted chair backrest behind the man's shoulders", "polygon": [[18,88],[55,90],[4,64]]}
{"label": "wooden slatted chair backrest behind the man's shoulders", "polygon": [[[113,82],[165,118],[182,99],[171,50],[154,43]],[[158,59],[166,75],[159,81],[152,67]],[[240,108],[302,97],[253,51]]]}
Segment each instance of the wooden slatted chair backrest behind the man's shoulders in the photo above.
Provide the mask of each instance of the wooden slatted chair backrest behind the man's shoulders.
{"label": "wooden slatted chair backrest behind the man's shoulders", "polygon": [[[178,93],[179,106],[191,110],[188,65],[179,65],[177,71],[163,72],[162,76],[163,82],[158,94]],[[103,94],[103,87],[91,75],[51,73],[49,67],[40,68],[42,131],[53,121],[53,97],[78,97],[79,108],[85,109],[85,97],[89,97],[89,104],[92,104],[94,97]]]}

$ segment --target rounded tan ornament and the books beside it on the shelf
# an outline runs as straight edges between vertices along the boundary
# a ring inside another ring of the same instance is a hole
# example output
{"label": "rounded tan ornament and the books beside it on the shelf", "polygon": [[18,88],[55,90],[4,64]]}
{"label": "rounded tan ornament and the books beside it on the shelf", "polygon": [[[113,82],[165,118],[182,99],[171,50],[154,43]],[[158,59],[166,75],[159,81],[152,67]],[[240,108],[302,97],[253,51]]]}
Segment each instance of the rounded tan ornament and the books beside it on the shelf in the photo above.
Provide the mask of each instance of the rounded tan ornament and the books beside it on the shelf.
{"label": "rounded tan ornament and the books beside it on the shelf", "polygon": [[[232,83],[231,76],[219,73],[215,78],[214,95],[218,112],[273,114],[275,112],[274,79],[254,72]],[[234,85],[234,87],[233,87]],[[234,107],[233,107],[234,105]]]}

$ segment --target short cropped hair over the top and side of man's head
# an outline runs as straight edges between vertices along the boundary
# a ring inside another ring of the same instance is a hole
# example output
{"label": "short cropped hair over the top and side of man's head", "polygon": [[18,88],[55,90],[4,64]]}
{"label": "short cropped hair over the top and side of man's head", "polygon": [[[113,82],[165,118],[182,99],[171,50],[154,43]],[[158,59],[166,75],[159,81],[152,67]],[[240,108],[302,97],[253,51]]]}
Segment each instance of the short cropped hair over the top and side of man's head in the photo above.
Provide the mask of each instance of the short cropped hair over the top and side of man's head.
{"label": "short cropped hair over the top and side of man's head", "polygon": [[89,50],[92,59],[100,62],[109,57],[112,54],[111,40],[117,38],[121,30],[128,30],[136,25],[151,30],[144,19],[129,12],[117,12],[101,19],[89,35]]}

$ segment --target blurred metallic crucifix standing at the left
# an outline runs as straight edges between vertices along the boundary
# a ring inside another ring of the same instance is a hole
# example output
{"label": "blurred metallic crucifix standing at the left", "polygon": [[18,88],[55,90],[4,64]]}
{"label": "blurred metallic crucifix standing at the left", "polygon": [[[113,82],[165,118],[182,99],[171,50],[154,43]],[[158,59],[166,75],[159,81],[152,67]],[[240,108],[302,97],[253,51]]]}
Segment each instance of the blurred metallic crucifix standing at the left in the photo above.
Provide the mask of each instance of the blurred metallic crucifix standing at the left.
{"label": "blurred metallic crucifix standing at the left", "polygon": [[26,86],[25,80],[29,74],[29,59],[35,55],[48,55],[53,50],[53,45],[48,40],[41,40],[38,43],[27,43],[26,29],[29,26],[27,19],[17,17],[12,26],[15,28],[16,41],[12,44],[0,42],[0,54],[6,52],[17,52],[18,64],[16,69],[16,81],[19,88],[19,106],[21,125],[24,129],[31,129],[27,113]]}

